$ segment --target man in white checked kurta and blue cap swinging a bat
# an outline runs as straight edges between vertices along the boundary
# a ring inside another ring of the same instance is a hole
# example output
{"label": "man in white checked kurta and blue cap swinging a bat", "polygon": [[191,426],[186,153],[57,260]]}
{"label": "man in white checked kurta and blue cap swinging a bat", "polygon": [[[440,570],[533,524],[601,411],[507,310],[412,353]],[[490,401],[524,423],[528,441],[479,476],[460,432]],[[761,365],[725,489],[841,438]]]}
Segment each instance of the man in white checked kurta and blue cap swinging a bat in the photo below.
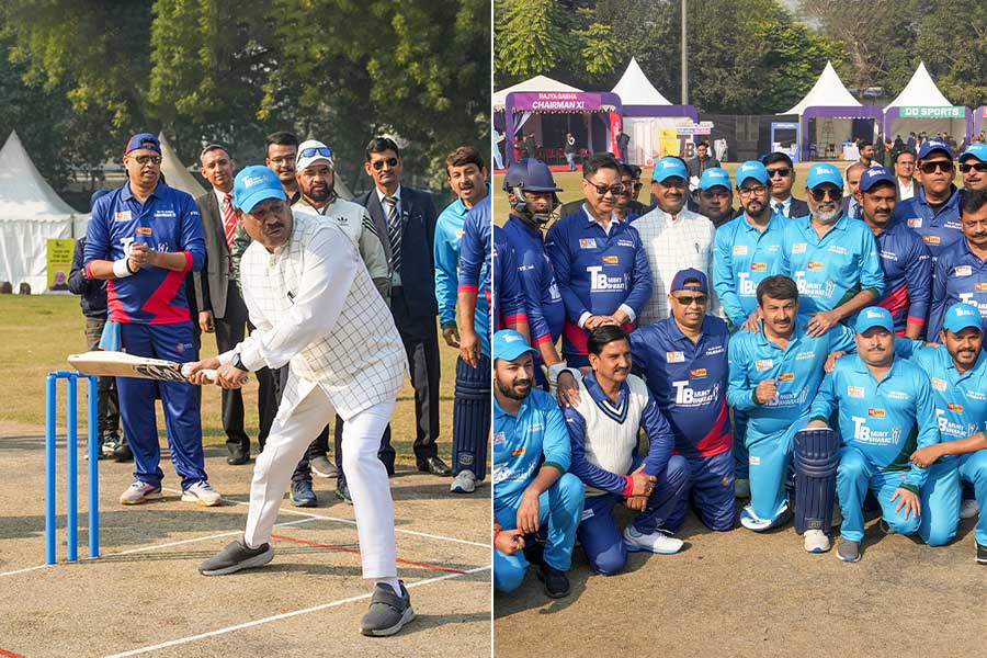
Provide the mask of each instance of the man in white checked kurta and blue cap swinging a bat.
{"label": "man in white checked kurta and blue cap swinging a bat", "polygon": [[[193,373],[217,368],[217,383],[226,388],[265,365],[290,362],[291,374],[257,457],[247,530],[198,570],[219,576],[271,561],[269,542],[292,470],[339,412],[363,577],[375,581],[360,631],[394,635],[415,612],[397,579],[394,503],[377,449],[404,381],[405,348],[353,242],[333,223],[293,215],[273,171],[243,169],[234,184],[234,206],[253,238],[240,276],[257,331],[229,352],[197,362]],[[202,378],[193,374],[195,383]]]}

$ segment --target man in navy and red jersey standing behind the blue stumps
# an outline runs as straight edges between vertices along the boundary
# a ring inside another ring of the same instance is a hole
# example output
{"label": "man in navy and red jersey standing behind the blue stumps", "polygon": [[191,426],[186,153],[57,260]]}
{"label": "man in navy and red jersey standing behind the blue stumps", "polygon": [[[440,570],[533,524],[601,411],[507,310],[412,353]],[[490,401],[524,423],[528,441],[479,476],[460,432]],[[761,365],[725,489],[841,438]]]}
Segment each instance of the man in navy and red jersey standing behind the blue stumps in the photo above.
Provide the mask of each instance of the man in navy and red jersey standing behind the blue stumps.
{"label": "man in navy and red jersey standing behind the blue stumps", "polygon": [[[196,361],[184,281],[202,270],[205,241],[191,195],[161,181],[161,145],[150,133],[131,137],[123,158],[127,183],[101,197],[86,234],[84,273],[106,279],[110,328],[120,349],[137,356]],[[161,497],[155,397],[160,394],[182,500],[222,502],[208,484],[202,453],[200,397],[184,382],[117,378],[124,431],[134,452],[135,481],[120,498],[136,504]]]}

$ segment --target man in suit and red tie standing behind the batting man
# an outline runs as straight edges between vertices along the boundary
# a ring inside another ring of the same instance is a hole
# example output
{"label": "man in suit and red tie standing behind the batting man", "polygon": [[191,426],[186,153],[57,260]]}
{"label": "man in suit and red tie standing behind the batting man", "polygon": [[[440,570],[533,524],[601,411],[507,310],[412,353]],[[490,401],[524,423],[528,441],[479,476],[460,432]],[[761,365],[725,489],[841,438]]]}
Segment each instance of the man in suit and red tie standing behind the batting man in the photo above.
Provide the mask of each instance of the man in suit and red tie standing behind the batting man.
{"label": "man in suit and red tie standing behind the batting man", "polygon": [[[206,265],[195,282],[198,327],[216,333],[219,353],[234,349],[247,331],[247,305],[232,275],[230,251],[237,230],[232,207],[236,162],[226,147],[211,144],[198,156],[200,173],[212,189],[195,200],[206,243]],[[250,458],[250,436],[243,429],[243,396],[238,388],[223,389],[223,431],[226,432],[226,462],[246,464]]]}

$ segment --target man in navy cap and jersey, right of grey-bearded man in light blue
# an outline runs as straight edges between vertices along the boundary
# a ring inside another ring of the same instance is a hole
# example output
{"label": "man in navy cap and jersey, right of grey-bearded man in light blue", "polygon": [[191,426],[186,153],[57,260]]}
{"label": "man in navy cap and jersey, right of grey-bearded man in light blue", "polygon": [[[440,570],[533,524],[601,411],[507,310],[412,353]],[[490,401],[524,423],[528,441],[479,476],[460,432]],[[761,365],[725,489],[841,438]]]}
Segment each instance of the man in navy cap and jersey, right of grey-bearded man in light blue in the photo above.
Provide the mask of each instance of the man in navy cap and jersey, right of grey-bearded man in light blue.
{"label": "man in navy cap and jersey, right of grey-bearded man in light blue", "polygon": [[860,179],[864,224],[877,240],[884,296],[877,306],[888,309],[895,333],[918,339],[924,333],[932,295],[932,254],[922,239],[895,213],[895,179],[884,167],[867,169]]}

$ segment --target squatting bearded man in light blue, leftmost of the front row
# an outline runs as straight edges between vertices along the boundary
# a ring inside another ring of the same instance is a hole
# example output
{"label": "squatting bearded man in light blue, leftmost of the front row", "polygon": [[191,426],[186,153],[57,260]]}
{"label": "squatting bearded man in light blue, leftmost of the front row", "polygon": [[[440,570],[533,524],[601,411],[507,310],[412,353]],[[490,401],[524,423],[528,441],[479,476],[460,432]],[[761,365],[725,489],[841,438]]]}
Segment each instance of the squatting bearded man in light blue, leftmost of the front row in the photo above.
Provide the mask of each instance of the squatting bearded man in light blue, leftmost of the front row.
{"label": "squatting bearded man in light blue, leftmost of the front row", "polygon": [[494,587],[509,592],[527,570],[524,535],[548,524],[538,578],[553,599],[569,593],[582,481],[567,473],[569,434],[555,400],[532,387],[535,350],[511,329],[494,334]]}

